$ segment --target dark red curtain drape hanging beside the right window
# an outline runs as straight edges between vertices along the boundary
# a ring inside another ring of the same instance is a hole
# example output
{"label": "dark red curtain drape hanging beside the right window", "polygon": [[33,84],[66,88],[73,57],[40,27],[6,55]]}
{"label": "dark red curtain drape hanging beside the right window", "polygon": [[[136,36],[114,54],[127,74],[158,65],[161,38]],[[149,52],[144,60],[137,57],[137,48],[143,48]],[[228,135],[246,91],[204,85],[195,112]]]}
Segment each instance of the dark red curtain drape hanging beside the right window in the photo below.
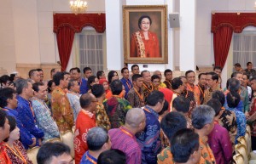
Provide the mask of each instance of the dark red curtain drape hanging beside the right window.
{"label": "dark red curtain drape hanging beside the right window", "polygon": [[230,26],[222,26],[213,33],[213,47],[215,65],[225,65],[230,50],[230,42],[232,39],[233,29]]}

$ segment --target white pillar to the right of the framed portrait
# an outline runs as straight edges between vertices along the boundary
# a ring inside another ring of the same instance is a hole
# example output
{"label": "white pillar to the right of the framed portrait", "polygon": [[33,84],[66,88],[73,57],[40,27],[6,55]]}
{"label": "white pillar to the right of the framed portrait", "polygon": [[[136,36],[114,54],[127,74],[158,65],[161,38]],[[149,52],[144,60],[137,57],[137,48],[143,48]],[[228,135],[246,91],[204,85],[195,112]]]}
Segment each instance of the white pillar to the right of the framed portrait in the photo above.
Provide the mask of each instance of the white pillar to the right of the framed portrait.
{"label": "white pillar to the right of the framed portrait", "polygon": [[195,12],[196,0],[180,0],[180,71],[195,70]]}

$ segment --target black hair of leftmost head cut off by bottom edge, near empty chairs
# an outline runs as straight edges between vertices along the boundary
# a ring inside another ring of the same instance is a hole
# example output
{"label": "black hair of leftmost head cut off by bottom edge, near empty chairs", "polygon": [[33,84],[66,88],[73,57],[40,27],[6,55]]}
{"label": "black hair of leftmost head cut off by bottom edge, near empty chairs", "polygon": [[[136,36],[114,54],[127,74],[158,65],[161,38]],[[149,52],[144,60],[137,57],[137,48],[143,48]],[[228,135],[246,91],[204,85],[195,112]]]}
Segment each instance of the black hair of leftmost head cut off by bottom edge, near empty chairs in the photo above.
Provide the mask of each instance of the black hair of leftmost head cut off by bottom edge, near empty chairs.
{"label": "black hair of leftmost head cut off by bottom edge, near empty chairs", "polygon": [[45,143],[38,151],[38,164],[48,164],[53,156],[61,156],[63,154],[70,155],[70,148],[61,142]]}

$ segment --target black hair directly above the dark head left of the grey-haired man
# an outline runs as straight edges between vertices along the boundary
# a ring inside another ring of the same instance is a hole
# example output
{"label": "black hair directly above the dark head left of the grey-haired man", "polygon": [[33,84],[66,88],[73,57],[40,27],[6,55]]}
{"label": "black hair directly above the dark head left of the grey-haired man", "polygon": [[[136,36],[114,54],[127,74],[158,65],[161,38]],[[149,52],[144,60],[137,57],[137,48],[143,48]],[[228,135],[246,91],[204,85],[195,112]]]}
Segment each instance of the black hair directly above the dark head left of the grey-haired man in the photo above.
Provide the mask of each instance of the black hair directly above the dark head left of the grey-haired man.
{"label": "black hair directly above the dark head left of the grey-haired man", "polygon": [[189,99],[183,96],[177,96],[177,98],[173,99],[172,101],[172,107],[175,108],[175,110],[183,113],[189,112],[189,105]]}

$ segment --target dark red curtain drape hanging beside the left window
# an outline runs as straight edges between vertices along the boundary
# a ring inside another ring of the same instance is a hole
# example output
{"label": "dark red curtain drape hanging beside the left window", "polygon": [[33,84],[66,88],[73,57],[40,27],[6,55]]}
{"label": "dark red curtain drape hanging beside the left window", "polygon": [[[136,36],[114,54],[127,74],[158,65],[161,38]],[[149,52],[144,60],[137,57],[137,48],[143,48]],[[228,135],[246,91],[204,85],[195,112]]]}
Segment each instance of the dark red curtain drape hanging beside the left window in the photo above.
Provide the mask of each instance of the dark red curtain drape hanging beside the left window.
{"label": "dark red curtain drape hanging beside the left window", "polygon": [[62,26],[56,33],[58,49],[61,59],[61,71],[66,71],[73,45],[74,30],[69,26]]}

